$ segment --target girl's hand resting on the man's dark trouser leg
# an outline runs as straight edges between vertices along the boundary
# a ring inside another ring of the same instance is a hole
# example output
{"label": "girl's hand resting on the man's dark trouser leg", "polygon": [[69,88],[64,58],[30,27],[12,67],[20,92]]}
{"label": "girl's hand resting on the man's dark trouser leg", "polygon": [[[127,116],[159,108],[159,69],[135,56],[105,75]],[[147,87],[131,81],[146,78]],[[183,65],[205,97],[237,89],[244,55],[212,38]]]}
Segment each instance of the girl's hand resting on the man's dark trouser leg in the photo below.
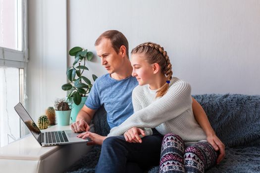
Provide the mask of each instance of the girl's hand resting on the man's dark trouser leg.
{"label": "girl's hand resting on the man's dark trouser leg", "polygon": [[142,139],[139,134],[145,136],[145,131],[140,128],[133,127],[124,133],[124,137],[127,142],[142,143]]}

